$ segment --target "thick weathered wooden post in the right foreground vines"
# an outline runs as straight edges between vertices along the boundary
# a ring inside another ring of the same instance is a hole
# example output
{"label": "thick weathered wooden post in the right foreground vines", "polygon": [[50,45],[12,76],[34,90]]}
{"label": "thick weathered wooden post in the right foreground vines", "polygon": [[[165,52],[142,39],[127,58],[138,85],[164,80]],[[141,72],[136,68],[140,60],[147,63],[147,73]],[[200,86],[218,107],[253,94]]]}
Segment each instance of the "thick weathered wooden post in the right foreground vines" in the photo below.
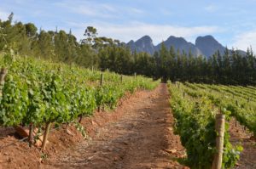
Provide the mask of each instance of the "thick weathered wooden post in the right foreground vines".
{"label": "thick weathered wooden post in the right foreground vines", "polygon": [[224,148],[224,126],[225,126],[225,115],[217,114],[215,121],[215,130],[217,132],[216,137],[216,149],[217,152],[214,155],[214,160],[212,162],[212,169],[221,169],[223,148]]}

